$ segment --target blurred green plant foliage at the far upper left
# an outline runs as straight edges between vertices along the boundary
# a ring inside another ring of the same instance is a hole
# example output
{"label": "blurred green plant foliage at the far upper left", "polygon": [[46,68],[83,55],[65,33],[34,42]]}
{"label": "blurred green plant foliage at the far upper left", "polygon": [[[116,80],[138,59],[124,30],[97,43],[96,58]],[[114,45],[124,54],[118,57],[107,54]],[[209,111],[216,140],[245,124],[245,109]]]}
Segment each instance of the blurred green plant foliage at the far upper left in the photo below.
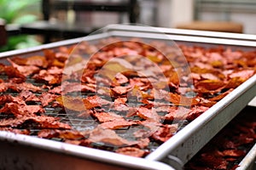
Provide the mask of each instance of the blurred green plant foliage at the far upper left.
{"label": "blurred green plant foliage at the far upper left", "polygon": [[[26,24],[38,20],[41,0],[0,0],[0,18],[6,24]],[[28,48],[40,44],[34,36],[15,35],[8,38],[0,51]]]}

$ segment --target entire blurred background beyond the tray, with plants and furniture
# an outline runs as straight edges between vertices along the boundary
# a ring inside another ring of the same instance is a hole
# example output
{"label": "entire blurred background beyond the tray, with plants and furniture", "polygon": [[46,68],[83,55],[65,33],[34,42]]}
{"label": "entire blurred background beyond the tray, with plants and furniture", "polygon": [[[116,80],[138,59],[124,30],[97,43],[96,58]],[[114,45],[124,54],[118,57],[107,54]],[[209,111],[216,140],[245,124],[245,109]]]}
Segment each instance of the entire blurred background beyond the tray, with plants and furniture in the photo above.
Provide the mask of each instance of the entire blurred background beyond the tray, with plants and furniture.
{"label": "entire blurred background beyond the tray, with plants and furniture", "polygon": [[255,0],[0,0],[0,51],[115,23],[256,34]]}

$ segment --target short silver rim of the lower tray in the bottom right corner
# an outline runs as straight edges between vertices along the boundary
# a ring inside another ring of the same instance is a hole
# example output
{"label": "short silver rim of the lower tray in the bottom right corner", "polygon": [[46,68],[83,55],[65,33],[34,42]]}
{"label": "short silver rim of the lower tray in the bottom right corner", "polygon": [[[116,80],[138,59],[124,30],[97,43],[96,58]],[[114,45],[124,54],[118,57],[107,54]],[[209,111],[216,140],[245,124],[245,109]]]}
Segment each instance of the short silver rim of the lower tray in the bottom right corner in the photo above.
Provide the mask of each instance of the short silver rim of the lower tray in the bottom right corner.
{"label": "short silver rim of the lower tray in the bottom right corner", "polygon": [[256,168],[256,144],[247,153],[247,155],[241,160],[236,167],[236,170],[254,170]]}

